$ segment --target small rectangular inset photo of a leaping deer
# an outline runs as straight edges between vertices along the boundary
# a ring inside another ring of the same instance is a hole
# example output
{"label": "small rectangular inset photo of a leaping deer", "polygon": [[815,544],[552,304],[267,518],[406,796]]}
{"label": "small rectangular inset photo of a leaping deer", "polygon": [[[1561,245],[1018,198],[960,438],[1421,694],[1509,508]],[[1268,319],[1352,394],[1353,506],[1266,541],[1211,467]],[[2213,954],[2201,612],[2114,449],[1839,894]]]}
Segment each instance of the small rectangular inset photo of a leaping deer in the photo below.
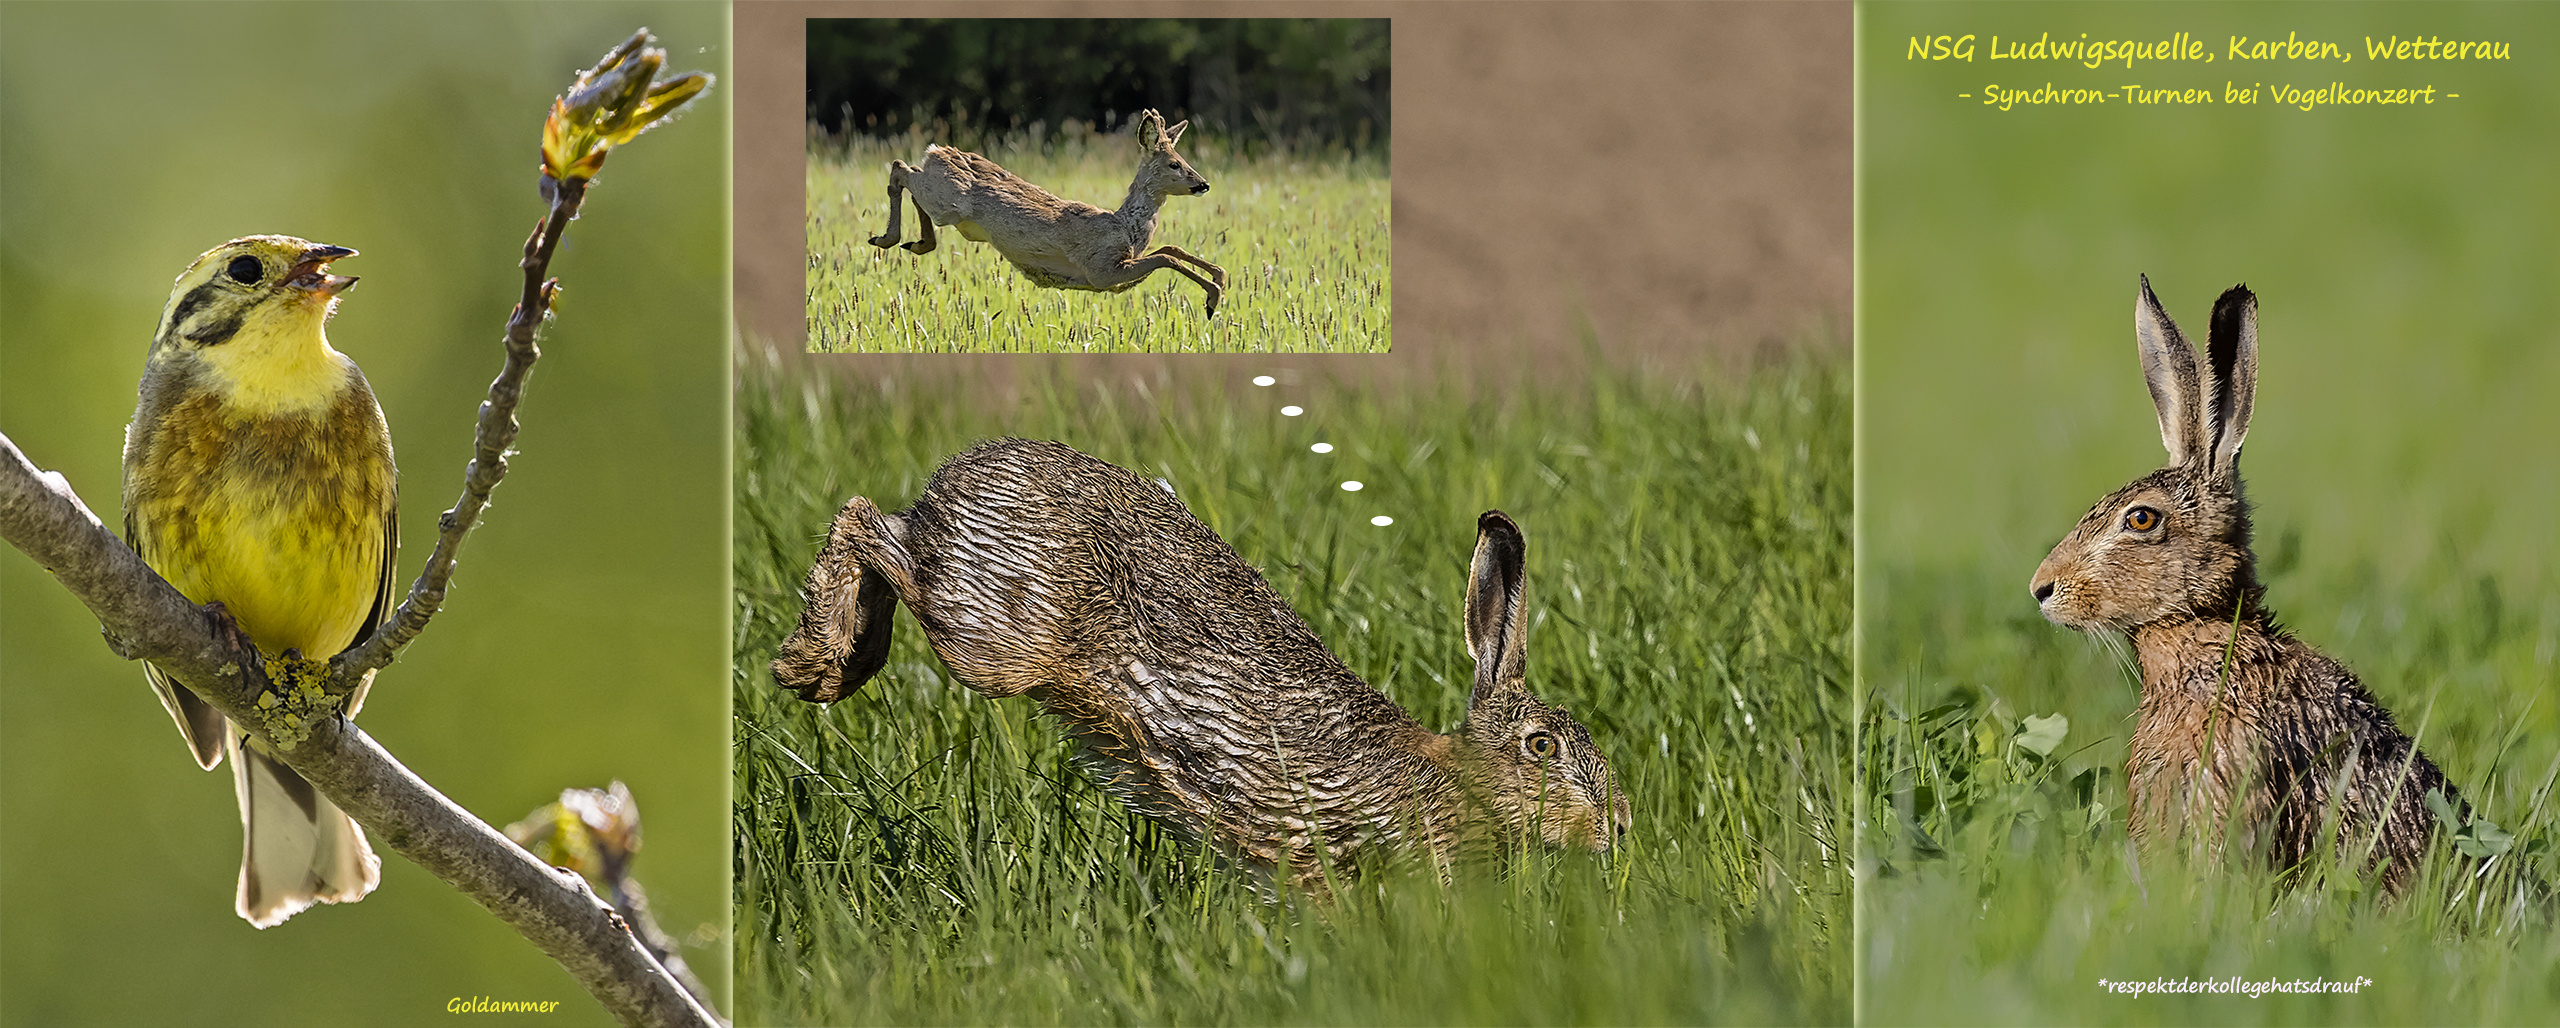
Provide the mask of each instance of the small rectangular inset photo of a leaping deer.
{"label": "small rectangular inset photo of a leaping deer", "polygon": [[812,18],[814,353],[1385,353],[1385,18]]}

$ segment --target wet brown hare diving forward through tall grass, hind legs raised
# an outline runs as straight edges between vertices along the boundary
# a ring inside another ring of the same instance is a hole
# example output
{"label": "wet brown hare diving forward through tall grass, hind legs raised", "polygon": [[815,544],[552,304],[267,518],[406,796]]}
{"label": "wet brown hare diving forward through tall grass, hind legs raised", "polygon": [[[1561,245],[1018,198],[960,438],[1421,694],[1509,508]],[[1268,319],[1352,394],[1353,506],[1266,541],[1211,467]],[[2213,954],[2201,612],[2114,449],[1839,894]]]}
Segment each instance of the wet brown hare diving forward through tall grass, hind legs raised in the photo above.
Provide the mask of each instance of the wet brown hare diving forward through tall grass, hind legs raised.
{"label": "wet brown hare diving forward through tall grass, hind legs raised", "polygon": [[899,601],[968,688],[1032,696],[1129,808],[1321,887],[1367,854],[1446,862],[1528,839],[1605,852],[1626,793],[1590,731],[1528,693],[1521,529],[1477,522],[1475,693],[1434,734],[1352,675],[1157,481],[1057,442],[996,440],[901,514],[855,496],[809,568],[773,680],[812,703],[888,660]]}

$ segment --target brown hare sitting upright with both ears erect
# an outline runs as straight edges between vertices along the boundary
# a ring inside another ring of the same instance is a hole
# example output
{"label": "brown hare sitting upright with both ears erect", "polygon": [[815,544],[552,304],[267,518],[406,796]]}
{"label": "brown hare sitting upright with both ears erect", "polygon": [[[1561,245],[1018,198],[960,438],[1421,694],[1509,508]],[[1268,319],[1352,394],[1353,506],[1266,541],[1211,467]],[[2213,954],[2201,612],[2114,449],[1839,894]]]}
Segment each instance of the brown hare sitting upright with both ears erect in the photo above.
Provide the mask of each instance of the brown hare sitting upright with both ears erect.
{"label": "brown hare sitting upright with both ears erect", "polygon": [[2127,834],[2194,854],[2230,839],[2278,872],[2330,844],[2401,892],[2435,829],[2427,793],[2468,806],[2345,665],[2266,609],[2240,494],[2258,297],[2232,286],[2214,302],[2204,366],[2150,279],[2132,327],[2168,468],[2099,499],[2030,583],[2053,624],[2132,639],[2143,703]]}

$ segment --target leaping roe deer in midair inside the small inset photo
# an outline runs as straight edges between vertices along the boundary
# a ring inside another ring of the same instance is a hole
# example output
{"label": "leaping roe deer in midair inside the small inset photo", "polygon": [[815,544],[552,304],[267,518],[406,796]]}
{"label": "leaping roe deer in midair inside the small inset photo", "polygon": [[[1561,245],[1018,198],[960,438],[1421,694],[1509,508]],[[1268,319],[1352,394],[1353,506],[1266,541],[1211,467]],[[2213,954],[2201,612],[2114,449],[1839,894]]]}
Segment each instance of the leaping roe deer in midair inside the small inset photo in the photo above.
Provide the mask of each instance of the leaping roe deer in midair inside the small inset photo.
{"label": "leaping roe deer in midair inside the small inset photo", "polygon": [[[1203,194],[1208,179],[1172,151],[1190,128],[1188,120],[1165,128],[1155,110],[1137,118],[1137,179],[1119,210],[1101,210],[1024,182],[978,153],[927,146],[924,164],[888,161],[888,230],[870,245],[899,245],[899,192],[916,199],[916,240],[909,253],[934,251],[934,225],[952,225],[960,238],[996,243],[1034,286],[1124,292],[1157,269],[1172,269],[1208,292],[1208,317],[1226,294],[1226,269],[1201,261],[1178,245],[1157,245],[1155,210],[1170,194]],[[1183,263],[1208,271],[1201,279]]]}

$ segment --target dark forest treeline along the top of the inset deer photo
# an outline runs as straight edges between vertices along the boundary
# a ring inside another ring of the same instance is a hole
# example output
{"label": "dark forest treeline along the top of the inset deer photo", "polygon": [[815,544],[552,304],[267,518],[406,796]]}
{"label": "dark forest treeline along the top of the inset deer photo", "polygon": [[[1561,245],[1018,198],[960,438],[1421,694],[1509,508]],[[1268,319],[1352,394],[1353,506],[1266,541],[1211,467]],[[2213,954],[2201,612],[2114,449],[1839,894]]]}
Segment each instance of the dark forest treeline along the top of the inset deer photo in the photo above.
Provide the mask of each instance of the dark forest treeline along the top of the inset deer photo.
{"label": "dark forest treeline along the top of the inset deer photo", "polygon": [[[1385,18],[812,18],[809,120],[827,133],[942,125],[960,148],[1139,110],[1229,146],[1382,151]],[[975,133],[975,136],[973,136]]]}

